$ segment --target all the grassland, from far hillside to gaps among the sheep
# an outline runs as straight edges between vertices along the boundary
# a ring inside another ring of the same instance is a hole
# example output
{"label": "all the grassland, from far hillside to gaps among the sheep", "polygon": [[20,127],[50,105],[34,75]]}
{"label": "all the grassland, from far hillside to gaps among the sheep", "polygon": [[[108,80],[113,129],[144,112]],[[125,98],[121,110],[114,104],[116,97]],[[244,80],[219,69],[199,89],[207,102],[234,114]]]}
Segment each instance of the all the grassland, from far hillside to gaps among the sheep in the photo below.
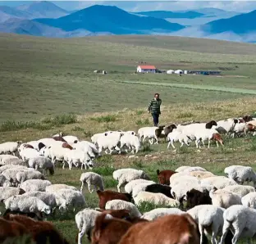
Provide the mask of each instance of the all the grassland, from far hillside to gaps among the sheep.
{"label": "all the grassland, from far hillside to gaps among the sheep", "polygon": [[[63,131],[89,139],[109,129],[151,124],[146,112],[153,93],[161,93],[161,124],[219,120],[256,111],[256,46],[173,37],[95,37],[50,39],[0,35],[1,141],[30,141]],[[135,75],[140,61],[159,69],[222,70],[222,77],[164,74]],[[94,74],[107,70],[107,75]],[[71,115],[68,115],[72,113]],[[199,165],[223,174],[231,164],[256,167],[254,138],[225,138],[224,147],[200,151],[191,147],[167,151],[161,142],[144,146],[138,158],[103,156],[94,172],[115,189],[114,169],[144,169],[156,180],[156,169]],[[151,155],[145,157],[145,155]],[[81,170],[57,169],[49,180],[80,187]],[[85,191],[89,207],[98,198]],[[142,211],[148,210],[141,208]],[[75,243],[74,214],[53,220]]]}

